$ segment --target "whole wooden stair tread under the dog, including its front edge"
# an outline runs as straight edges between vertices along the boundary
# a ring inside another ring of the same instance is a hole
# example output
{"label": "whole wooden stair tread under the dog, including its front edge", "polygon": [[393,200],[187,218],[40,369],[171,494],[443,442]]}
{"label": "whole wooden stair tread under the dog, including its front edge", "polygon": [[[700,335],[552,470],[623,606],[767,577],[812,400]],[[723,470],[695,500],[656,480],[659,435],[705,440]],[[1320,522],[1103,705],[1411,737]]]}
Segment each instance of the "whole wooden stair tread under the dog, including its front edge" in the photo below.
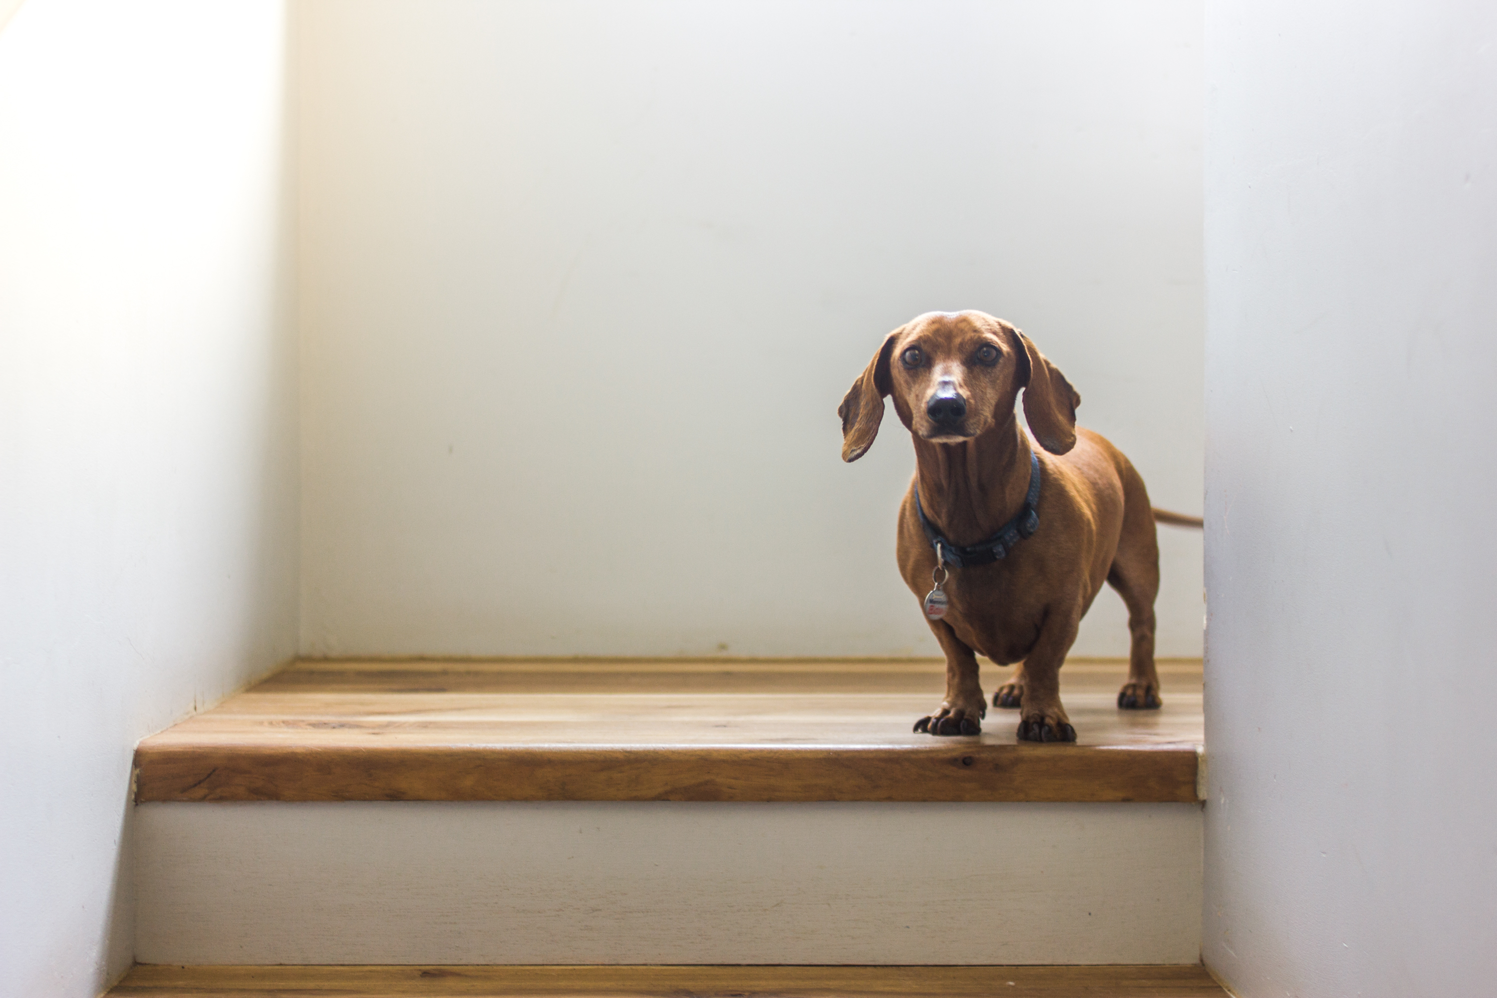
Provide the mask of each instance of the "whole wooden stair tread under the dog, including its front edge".
{"label": "whole wooden stair tread under the dog, including its front edge", "polygon": [[[1070,661],[1076,745],[910,730],[942,663],[301,661],[141,742],[151,800],[1196,800],[1199,661],[1118,711],[1124,666]],[[984,676],[996,688],[1006,670]]]}

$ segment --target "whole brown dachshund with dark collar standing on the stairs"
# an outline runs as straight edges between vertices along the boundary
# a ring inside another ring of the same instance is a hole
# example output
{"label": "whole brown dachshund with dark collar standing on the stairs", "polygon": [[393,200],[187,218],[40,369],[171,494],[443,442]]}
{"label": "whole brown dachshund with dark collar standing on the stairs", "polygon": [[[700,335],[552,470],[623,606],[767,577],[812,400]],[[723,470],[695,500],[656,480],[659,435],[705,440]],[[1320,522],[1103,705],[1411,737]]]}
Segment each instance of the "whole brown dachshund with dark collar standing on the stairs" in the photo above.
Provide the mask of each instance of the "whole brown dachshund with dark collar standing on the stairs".
{"label": "whole brown dachshund with dark collar standing on the stairs", "polygon": [[[1042,450],[1015,417],[1019,389]],[[915,438],[915,479],[900,507],[900,575],[925,599],[946,652],[946,699],[915,730],[982,730],[976,655],[987,655],[1021,663],[993,697],[994,706],[1019,708],[1021,739],[1075,741],[1060,703],[1060,666],[1103,582],[1127,604],[1133,637],[1118,706],[1157,708],[1154,510],[1129,459],[1076,426],[1081,397],[1070,382],[1001,319],[927,313],[888,335],[843,398],[843,461],[873,444],[885,395]]]}

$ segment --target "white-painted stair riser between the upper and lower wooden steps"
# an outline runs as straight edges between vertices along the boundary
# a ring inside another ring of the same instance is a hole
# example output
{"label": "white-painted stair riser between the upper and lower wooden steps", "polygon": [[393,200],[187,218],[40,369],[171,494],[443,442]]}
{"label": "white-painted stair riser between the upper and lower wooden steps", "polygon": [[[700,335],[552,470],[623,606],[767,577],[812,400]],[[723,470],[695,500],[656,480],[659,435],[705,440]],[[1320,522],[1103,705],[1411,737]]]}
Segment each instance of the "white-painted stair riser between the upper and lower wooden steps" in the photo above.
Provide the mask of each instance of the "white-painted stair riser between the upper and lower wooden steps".
{"label": "white-painted stair riser between the upper and lower wooden steps", "polygon": [[1193,803],[147,803],[142,964],[1193,964]]}

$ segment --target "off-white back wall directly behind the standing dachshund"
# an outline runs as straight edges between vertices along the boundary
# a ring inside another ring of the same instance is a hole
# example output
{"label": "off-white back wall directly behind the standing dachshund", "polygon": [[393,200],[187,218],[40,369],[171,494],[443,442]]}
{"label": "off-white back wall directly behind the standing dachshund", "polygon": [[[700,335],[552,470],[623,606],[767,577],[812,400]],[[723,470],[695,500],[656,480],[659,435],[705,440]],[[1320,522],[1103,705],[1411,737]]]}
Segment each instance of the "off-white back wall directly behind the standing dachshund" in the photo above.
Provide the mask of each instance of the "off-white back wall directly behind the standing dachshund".
{"label": "off-white back wall directly behind the standing dachshund", "polygon": [[298,9],[302,651],[936,654],[834,414],[931,308],[1199,509],[1198,3]]}

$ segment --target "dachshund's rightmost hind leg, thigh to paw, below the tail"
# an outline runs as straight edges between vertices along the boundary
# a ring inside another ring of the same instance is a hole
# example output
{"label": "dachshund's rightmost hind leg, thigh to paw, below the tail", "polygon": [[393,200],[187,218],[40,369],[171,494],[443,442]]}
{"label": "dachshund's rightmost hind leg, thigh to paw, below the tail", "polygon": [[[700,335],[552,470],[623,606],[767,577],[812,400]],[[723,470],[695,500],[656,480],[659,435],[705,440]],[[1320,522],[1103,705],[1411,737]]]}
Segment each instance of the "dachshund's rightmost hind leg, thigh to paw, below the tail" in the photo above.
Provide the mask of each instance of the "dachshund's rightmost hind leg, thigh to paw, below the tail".
{"label": "dachshund's rightmost hind leg, thigh to paw, below the tail", "polygon": [[1123,474],[1123,534],[1108,570],[1108,585],[1127,606],[1132,636],[1127,682],[1118,691],[1118,706],[1153,709],[1160,705],[1159,673],[1154,670],[1154,597],[1159,596],[1159,539],[1148,492],[1133,465]]}

